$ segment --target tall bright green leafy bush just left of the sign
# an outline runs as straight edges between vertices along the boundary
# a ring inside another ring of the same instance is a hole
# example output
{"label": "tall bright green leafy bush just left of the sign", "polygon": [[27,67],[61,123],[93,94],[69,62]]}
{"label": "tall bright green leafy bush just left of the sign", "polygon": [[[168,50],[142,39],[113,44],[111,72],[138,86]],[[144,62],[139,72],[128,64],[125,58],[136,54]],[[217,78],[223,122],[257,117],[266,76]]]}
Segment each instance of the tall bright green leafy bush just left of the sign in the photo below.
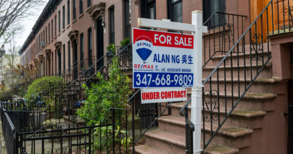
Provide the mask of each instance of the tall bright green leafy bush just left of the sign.
{"label": "tall bright green leafy bush just left of the sign", "polygon": [[77,111],[77,114],[88,125],[103,124],[111,120],[110,109],[125,108],[127,104],[130,79],[121,72],[118,58],[113,59],[113,64],[109,68],[108,81],[99,72],[97,74],[99,83],[92,84],[91,87],[83,85],[87,100],[84,107]]}

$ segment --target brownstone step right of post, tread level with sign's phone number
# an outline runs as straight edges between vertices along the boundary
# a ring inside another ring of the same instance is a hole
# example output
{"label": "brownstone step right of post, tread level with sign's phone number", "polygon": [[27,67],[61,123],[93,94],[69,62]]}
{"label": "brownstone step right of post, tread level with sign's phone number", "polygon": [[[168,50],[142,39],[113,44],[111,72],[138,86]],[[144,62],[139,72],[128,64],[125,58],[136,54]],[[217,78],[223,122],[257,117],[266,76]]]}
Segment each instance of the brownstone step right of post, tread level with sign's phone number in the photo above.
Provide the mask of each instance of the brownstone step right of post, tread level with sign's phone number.
{"label": "brownstone step right of post, tread level with sign's phone number", "polygon": [[[234,92],[234,94],[242,94],[249,83],[251,82],[250,78],[244,80],[242,76],[240,76],[240,79],[238,79],[238,76],[235,76],[233,78],[233,82],[231,79],[217,79],[212,78],[212,80],[209,80],[206,82],[204,89],[205,90],[217,90],[219,91],[231,91]],[[273,92],[273,84],[276,84],[280,82],[279,79],[272,79],[272,78],[258,78],[253,82],[253,84],[248,88],[248,93],[272,93]],[[233,84],[232,84],[233,83]],[[211,86],[210,86],[211,85]],[[233,90],[232,90],[233,85]]]}

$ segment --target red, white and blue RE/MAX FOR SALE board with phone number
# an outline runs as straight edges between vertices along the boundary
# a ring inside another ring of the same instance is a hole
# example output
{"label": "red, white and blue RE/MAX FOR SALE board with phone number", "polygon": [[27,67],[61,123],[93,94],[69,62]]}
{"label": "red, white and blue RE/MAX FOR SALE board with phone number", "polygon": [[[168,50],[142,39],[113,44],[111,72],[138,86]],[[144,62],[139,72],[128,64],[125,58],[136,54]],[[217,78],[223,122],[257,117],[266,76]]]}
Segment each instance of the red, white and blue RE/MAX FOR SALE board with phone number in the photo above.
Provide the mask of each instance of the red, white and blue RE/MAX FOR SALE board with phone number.
{"label": "red, white and blue RE/MAX FOR SALE board with phone number", "polygon": [[133,88],[193,85],[193,35],[133,28]]}

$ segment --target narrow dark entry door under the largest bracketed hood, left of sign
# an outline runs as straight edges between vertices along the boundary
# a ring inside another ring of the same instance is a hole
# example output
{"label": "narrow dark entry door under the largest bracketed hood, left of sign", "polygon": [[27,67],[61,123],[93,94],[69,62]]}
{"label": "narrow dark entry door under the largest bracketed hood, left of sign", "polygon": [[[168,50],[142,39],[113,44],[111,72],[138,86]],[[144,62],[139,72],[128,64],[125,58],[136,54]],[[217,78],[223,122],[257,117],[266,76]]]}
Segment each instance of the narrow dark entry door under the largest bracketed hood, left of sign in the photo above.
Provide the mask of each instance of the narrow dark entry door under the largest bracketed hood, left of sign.
{"label": "narrow dark entry door under the largest bracketed hood, left of sign", "polygon": [[[104,55],[104,35],[102,27],[102,17],[100,16],[97,20],[97,60]],[[104,66],[103,59],[97,64],[97,70]]]}

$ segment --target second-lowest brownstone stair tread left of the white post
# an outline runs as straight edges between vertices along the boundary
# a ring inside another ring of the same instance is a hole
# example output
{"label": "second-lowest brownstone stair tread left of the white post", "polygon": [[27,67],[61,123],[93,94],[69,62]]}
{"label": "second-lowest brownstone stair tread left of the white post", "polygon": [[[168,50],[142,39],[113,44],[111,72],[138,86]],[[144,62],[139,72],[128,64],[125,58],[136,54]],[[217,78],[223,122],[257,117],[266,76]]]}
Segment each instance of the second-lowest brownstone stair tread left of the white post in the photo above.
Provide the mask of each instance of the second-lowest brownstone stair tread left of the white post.
{"label": "second-lowest brownstone stair tread left of the white post", "polygon": [[179,136],[177,134],[163,131],[160,129],[148,131],[145,136],[154,138],[156,140],[161,140],[176,146],[185,147],[185,136]]}

